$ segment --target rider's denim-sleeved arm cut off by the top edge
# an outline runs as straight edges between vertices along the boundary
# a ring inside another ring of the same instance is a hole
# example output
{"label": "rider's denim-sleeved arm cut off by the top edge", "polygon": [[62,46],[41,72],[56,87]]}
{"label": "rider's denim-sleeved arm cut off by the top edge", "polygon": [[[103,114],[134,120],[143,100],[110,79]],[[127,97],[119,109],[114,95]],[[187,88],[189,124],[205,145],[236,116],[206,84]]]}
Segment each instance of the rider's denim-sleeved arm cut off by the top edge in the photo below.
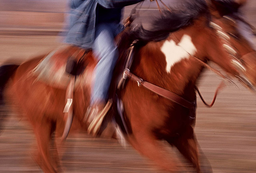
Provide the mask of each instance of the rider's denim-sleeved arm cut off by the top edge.
{"label": "rider's denim-sleeved arm cut off by the top edge", "polygon": [[124,6],[129,6],[136,4],[143,0],[96,0],[101,6],[105,8],[120,8]]}

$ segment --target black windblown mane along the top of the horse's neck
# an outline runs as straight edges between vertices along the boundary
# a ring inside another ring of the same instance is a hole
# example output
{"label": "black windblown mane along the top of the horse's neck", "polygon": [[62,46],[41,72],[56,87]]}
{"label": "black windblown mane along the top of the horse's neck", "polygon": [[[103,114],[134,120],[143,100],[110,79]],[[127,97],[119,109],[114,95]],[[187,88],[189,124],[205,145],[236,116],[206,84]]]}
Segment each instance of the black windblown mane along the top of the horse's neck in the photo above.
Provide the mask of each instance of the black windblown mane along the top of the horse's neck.
{"label": "black windblown mane along the top of the horse's neck", "polygon": [[146,42],[164,40],[170,32],[189,26],[201,14],[209,14],[204,0],[186,1],[179,8],[171,8],[171,12],[164,10],[163,15],[151,21],[151,29],[143,28],[142,24],[133,24],[131,29],[135,39]]}

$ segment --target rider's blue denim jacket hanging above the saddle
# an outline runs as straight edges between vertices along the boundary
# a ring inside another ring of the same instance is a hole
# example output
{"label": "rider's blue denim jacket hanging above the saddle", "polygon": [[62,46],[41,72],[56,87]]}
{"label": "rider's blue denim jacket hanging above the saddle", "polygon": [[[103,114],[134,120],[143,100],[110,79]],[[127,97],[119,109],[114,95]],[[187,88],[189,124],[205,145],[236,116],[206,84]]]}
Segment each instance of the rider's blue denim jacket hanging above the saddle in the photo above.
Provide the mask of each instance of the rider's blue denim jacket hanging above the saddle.
{"label": "rider's blue denim jacket hanging above the saddle", "polygon": [[91,49],[98,23],[119,23],[122,8],[141,1],[143,0],[71,0],[70,25],[65,42]]}

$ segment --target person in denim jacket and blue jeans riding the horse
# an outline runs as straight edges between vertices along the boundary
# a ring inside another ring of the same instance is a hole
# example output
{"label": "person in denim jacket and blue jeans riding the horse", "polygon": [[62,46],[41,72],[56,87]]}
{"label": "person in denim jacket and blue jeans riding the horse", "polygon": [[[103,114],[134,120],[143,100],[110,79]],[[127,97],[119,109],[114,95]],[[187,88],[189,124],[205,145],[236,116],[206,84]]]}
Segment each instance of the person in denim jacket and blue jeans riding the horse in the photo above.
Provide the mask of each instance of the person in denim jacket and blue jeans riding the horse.
{"label": "person in denim jacket and blue jeans riding the horse", "polygon": [[122,29],[122,9],[141,1],[143,0],[71,0],[70,28],[66,42],[87,50],[93,49],[98,58],[88,117],[99,115],[108,100],[113,69],[118,58],[114,38]]}

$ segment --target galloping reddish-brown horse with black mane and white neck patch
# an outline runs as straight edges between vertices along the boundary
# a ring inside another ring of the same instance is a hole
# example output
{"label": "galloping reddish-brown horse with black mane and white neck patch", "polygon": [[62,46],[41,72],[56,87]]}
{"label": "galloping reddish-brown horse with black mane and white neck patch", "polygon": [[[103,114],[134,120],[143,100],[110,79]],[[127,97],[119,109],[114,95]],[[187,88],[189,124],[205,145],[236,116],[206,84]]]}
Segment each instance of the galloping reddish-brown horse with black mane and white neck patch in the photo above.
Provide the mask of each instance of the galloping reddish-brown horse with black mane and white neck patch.
{"label": "galloping reddish-brown horse with black mane and white neck patch", "polygon": [[[190,2],[183,10],[166,11],[164,17],[155,20],[151,30],[131,24],[119,36],[126,40],[119,42],[123,51],[120,49],[113,85],[117,83],[117,74],[123,71],[125,57],[129,54],[127,49],[133,40],[138,41],[133,44],[132,65],[124,71],[123,89],[110,92],[117,93],[123,105],[125,125],[119,123],[117,115],[115,117],[121,129],[124,126],[127,129],[123,130],[125,139],[161,169],[169,172],[183,169],[166,151],[166,143],[161,142],[166,141],[179,150],[197,173],[202,172],[193,128],[196,81],[208,62],[218,64],[229,77],[255,89],[256,52],[238,26],[238,23],[248,26],[236,15],[239,8],[240,5],[232,1],[198,0]],[[50,54],[58,60],[67,60],[74,54],[83,57],[82,72],[75,72],[80,75],[75,77],[73,123],[70,125],[71,131],[86,131],[85,112],[89,107],[93,68],[97,61],[91,51],[76,46]],[[56,150],[50,153],[49,145],[54,132],[58,138],[66,129],[69,118],[63,116],[63,110],[67,105],[67,89],[38,80],[34,69],[47,57],[49,54],[20,65],[2,66],[0,89],[1,98],[15,101],[33,127],[38,146],[36,162],[44,172],[56,173],[60,171],[58,153]],[[56,148],[56,142],[51,144]]]}

